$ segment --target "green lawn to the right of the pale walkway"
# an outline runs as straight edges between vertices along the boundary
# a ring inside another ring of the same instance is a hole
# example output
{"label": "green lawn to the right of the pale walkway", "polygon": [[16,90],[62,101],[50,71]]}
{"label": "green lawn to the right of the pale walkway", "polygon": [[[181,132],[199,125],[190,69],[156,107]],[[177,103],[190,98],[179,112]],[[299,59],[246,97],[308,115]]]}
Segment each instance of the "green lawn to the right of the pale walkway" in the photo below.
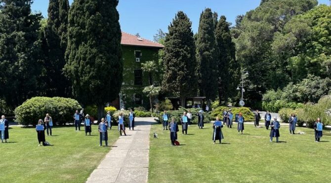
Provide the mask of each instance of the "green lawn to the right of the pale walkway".
{"label": "green lawn to the right of the pale walkway", "polygon": [[[152,125],[149,175],[150,183],[161,182],[328,182],[331,178],[331,135],[324,131],[320,143],[314,130],[297,128],[303,135],[290,135],[289,127],[280,130],[281,143],[270,143],[269,130],[245,125],[239,135],[237,125],[223,128],[222,143],[212,143],[212,126],[188,128],[189,135],[178,132],[182,146],[170,146],[169,131]],[[154,139],[156,132],[159,139]],[[217,142],[216,142],[217,143]]]}

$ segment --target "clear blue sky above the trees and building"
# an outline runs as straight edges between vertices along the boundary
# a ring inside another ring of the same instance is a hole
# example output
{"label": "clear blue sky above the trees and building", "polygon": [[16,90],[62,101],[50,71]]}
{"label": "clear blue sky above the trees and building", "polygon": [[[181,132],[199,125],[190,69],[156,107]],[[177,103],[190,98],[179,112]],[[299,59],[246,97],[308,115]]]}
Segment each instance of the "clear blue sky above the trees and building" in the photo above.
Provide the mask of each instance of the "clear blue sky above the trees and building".
{"label": "clear blue sky above the trees and building", "polygon": [[[218,16],[225,15],[228,22],[235,24],[236,16],[255,9],[261,0],[120,0],[121,30],[153,40],[158,29],[167,32],[175,14],[181,10],[192,22],[192,30],[198,32],[199,18],[205,8],[211,8]],[[71,4],[73,0],[69,0]],[[329,0],[318,0],[319,4],[330,4]],[[48,0],[34,0],[32,11],[47,17]]]}

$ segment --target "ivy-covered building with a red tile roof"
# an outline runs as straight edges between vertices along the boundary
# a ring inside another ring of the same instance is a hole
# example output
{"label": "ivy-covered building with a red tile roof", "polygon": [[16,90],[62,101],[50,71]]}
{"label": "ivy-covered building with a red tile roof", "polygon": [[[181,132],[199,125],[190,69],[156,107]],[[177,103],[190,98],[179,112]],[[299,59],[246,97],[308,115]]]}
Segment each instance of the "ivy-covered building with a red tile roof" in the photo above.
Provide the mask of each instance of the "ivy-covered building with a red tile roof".
{"label": "ivy-covered building with a red tile roof", "polygon": [[[155,61],[158,64],[159,50],[164,45],[141,37],[136,37],[122,32],[123,51],[123,83],[119,99],[111,103],[117,109],[137,106],[149,108],[149,99],[142,93],[144,87],[149,85],[148,73],[141,70],[141,63]],[[153,82],[159,84],[161,78],[153,76]]]}

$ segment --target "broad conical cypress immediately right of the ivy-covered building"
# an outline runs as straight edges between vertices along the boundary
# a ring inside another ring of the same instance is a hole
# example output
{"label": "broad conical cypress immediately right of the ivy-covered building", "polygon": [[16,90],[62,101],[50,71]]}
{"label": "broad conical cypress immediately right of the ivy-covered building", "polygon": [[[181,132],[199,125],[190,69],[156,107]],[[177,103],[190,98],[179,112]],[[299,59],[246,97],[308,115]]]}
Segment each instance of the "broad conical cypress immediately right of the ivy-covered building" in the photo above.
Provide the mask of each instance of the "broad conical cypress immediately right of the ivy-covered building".
{"label": "broad conical cypress immediately right of the ivy-covered building", "polygon": [[186,97],[196,94],[196,59],[192,22],[182,11],[178,11],[168,26],[165,36],[165,73],[163,89],[178,94],[181,106],[185,107]]}

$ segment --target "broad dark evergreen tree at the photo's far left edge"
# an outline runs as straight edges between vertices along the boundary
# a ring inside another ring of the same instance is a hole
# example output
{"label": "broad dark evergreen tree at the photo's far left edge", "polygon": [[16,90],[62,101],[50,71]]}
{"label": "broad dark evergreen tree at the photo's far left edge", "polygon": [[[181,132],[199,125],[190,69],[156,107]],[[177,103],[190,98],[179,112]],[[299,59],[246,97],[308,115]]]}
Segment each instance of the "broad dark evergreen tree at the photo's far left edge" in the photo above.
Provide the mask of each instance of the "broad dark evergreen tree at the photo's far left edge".
{"label": "broad dark evergreen tree at the photo's far left edge", "polygon": [[0,0],[0,97],[11,107],[39,95],[41,14],[32,0]]}

